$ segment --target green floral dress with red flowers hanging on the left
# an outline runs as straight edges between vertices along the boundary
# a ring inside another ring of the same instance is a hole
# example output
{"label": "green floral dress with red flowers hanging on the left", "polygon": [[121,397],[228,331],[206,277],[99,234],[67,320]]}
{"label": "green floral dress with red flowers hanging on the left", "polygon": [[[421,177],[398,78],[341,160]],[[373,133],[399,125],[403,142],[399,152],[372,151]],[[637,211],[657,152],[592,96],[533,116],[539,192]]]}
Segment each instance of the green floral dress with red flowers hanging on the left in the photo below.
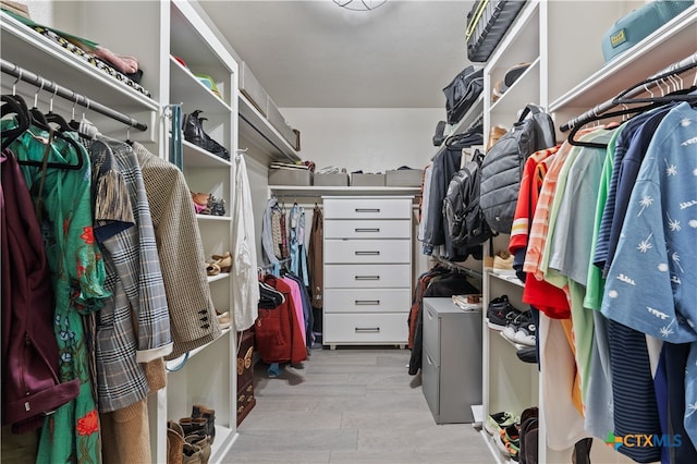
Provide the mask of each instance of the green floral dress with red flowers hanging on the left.
{"label": "green floral dress with red flowers hanging on the left", "polygon": [[[5,122],[3,121],[3,125]],[[66,135],[71,136],[71,134]],[[60,350],[61,381],[80,379],[80,394],[47,416],[37,463],[99,463],[99,414],[90,370],[94,349],[84,325],[109,296],[105,266],[93,235],[89,157],[82,145],[53,138],[32,127],[10,148],[17,160],[75,164],[78,170],[22,166],[39,217],[56,295],[54,333]],[[49,147],[47,149],[47,146]]]}

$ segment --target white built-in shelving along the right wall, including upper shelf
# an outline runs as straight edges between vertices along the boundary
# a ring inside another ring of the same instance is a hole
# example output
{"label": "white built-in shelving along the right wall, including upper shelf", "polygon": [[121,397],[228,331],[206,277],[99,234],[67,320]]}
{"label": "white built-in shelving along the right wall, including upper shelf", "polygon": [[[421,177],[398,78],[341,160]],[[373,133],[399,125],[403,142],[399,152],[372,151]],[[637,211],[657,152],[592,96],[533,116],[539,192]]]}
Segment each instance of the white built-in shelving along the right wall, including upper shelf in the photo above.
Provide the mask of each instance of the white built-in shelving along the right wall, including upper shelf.
{"label": "white built-in shelving along the right wall, including upper shelf", "polygon": [[[510,127],[528,102],[546,108],[555,126],[612,98],[627,83],[648,77],[694,52],[697,7],[676,16],[639,45],[604,63],[600,44],[616,19],[644,4],[643,1],[557,2],[528,1],[510,26],[501,44],[485,64],[485,136],[491,127]],[[602,19],[600,21],[599,19]],[[692,34],[692,35],[690,35]],[[496,101],[491,95],[496,83],[508,69],[531,63],[521,77]],[[558,131],[558,141],[566,134]],[[493,252],[508,249],[510,235],[493,239]],[[485,253],[489,246],[485,244]],[[490,257],[491,258],[491,257]],[[494,297],[508,295],[518,309],[523,304],[523,283],[511,276],[500,276],[485,268],[482,278],[485,306]],[[486,307],[485,307],[486,314]],[[536,364],[525,364],[512,344],[496,330],[482,325],[482,414],[509,411],[519,414],[542,403],[545,391]],[[572,449],[551,449],[540,408],[539,462],[571,462]],[[506,462],[491,437],[481,431],[497,462]],[[625,463],[624,455],[595,439],[594,462]]]}

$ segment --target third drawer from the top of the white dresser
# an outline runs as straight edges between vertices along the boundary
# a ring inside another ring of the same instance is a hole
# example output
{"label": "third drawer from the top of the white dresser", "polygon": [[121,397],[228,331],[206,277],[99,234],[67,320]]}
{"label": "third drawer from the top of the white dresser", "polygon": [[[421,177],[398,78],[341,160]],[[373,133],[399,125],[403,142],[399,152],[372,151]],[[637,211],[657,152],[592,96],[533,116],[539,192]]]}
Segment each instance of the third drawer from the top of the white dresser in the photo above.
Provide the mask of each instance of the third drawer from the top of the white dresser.
{"label": "third drawer from the top of the white dresser", "polygon": [[409,262],[409,240],[340,240],[325,241],[325,262]]}

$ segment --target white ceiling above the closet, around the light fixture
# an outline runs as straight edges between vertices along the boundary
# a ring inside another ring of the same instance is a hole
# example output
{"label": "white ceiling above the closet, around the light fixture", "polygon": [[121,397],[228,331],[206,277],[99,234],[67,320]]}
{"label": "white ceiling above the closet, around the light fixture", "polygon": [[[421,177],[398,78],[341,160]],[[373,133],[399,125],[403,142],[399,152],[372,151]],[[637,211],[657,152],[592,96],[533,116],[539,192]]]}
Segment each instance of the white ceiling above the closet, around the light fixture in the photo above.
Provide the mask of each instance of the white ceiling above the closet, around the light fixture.
{"label": "white ceiling above the closet, around the light fixture", "polygon": [[203,9],[280,108],[442,108],[473,1],[216,1]]}

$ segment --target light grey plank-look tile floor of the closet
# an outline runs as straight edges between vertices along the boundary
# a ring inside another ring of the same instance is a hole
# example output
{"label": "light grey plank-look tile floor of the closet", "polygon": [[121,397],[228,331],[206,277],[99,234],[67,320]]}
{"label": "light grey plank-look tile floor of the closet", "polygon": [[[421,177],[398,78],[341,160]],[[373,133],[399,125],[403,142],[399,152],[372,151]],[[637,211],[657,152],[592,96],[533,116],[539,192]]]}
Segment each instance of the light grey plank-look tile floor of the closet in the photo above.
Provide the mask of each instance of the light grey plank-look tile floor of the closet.
{"label": "light grey plank-look tile floor of the closet", "polygon": [[316,349],[303,368],[268,378],[223,463],[463,464],[496,462],[470,424],[437,425],[396,347]]}

